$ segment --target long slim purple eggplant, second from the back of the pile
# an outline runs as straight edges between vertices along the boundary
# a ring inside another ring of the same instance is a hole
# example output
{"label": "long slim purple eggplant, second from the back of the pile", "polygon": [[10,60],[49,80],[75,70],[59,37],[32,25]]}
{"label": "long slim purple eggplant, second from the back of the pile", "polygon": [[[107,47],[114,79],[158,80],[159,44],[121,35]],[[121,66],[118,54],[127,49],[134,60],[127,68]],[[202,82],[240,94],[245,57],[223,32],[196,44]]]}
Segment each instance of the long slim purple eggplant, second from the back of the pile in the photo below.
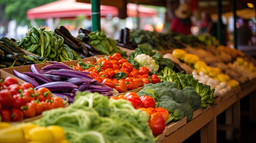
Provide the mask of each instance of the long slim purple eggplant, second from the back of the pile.
{"label": "long slim purple eggplant, second from the back of the pile", "polygon": [[64,76],[68,78],[79,77],[79,78],[85,78],[85,79],[92,79],[92,77],[88,76],[85,73],[81,73],[76,70],[67,70],[67,69],[51,70],[51,71],[47,71],[46,74],[54,74],[57,76]]}

